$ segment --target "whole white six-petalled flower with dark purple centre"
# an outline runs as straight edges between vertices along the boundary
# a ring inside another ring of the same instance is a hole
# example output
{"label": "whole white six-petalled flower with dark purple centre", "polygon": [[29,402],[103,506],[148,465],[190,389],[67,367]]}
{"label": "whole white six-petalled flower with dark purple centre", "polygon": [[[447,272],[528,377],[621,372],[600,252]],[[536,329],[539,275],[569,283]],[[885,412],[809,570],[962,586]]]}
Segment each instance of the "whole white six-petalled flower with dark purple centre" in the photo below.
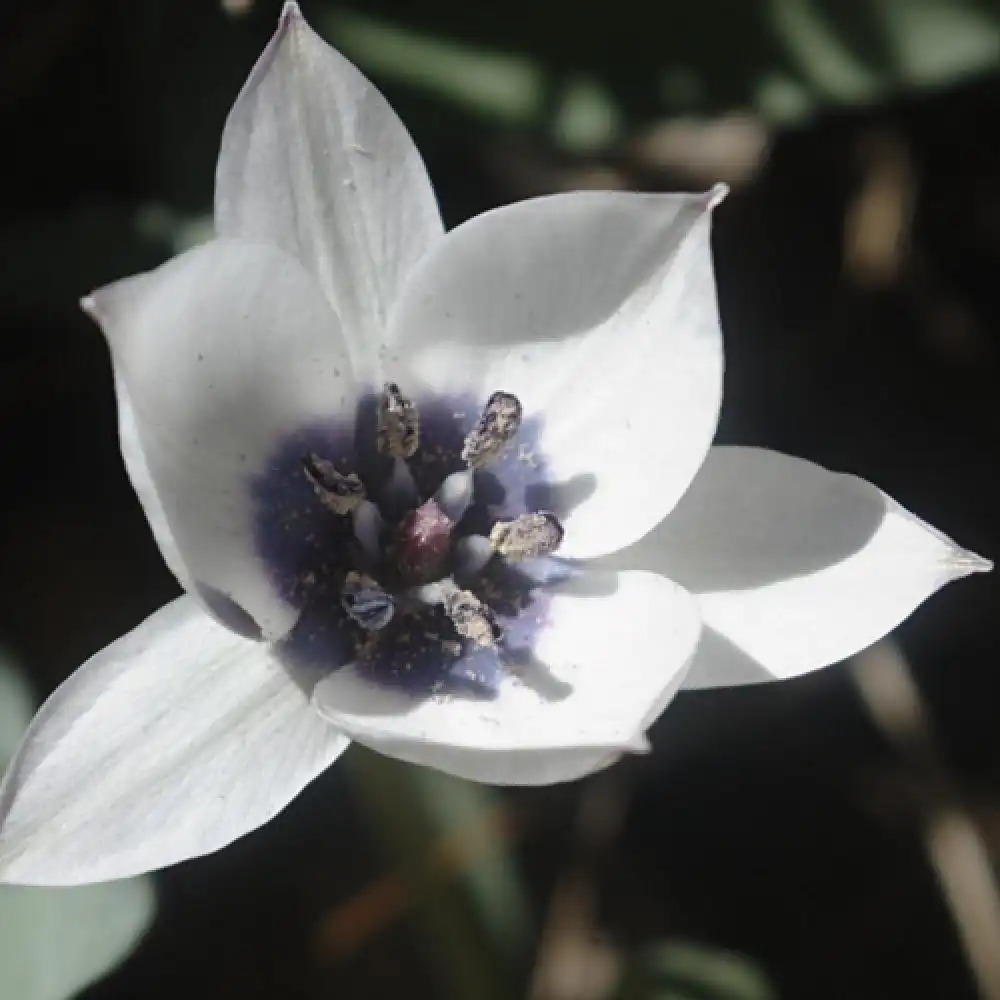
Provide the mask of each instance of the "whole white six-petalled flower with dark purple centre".
{"label": "whole white six-petalled flower with dark purple centre", "polygon": [[36,716],[3,878],[216,850],[349,738],[575,778],[642,750],[685,678],[815,669],[988,568],[858,479],[711,447],[722,194],[561,194],[445,236],[403,126],[289,4],[226,123],[218,237],[84,303],[187,594]]}

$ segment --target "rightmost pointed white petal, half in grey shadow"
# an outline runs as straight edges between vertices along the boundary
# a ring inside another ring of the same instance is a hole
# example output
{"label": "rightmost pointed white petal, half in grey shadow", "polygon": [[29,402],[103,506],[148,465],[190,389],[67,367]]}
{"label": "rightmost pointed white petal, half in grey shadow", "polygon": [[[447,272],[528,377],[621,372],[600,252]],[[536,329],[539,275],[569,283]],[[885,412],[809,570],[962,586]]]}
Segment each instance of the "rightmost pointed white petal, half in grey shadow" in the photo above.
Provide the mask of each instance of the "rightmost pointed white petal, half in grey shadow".
{"label": "rightmost pointed white petal, half in grey shadow", "polygon": [[687,687],[842,660],[990,568],[863,479],[760,448],[713,448],[667,520],[613,563],[697,596],[706,630]]}

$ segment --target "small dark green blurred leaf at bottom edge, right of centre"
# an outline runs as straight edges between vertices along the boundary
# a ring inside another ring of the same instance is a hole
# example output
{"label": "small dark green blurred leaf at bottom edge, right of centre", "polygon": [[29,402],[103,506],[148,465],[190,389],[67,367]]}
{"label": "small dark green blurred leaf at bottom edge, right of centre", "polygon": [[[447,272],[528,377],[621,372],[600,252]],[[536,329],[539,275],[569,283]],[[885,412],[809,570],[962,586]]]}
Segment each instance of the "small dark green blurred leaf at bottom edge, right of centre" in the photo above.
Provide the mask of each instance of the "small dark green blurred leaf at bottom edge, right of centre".
{"label": "small dark green blurred leaf at bottom edge, right of centre", "polygon": [[745,956],[675,941],[634,954],[613,1000],[777,1000],[777,993]]}

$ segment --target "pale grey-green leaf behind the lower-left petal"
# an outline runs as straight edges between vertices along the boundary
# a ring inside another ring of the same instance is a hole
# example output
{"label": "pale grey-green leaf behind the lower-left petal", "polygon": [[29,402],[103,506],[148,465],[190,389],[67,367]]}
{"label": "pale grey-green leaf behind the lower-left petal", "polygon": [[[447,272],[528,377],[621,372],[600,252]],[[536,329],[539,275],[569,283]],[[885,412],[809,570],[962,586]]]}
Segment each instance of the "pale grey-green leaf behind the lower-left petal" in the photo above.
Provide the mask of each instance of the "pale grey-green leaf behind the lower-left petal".
{"label": "pale grey-green leaf behind the lower-left petal", "polygon": [[[21,674],[0,659],[0,768],[31,718]],[[148,878],[72,889],[0,885],[0,997],[68,1000],[113,969],[149,926]]]}

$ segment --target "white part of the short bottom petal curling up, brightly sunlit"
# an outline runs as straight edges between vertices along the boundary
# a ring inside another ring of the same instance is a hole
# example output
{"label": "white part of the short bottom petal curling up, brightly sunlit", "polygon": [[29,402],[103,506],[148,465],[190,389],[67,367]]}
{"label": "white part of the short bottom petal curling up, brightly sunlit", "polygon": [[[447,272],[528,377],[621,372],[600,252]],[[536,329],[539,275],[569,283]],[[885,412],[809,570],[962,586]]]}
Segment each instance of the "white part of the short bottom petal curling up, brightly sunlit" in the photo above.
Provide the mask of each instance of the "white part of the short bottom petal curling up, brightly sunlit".
{"label": "white part of the short bottom petal curling up, brightly sunlit", "polygon": [[699,628],[694,600],[669,580],[588,572],[557,589],[531,662],[493,698],[415,697],[345,668],[313,701],[358,742],[403,760],[492,784],[568,781],[646,748]]}

